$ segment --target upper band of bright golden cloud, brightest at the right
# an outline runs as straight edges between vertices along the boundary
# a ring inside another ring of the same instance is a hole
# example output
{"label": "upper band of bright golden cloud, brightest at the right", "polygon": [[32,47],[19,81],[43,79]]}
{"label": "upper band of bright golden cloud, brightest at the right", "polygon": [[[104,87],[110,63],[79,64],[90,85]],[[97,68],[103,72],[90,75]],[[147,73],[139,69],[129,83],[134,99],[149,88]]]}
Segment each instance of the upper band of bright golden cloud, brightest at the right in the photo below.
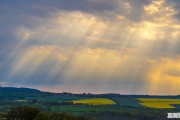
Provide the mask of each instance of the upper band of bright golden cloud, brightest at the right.
{"label": "upper band of bright golden cloud, brightest at the right", "polygon": [[[128,8],[131,7],[128,2],[124,4]],[[161,6],[163,1],[152,2],[152,4]],[[98,42],[102,42],[116,44],[114,47],[118,44],[126,47],[129,43],[134,44],[134,46],[138,44],[138,47],[141,47],[142,44],[146,44],[146,41],[152,41],[149,45],[151,46],[155,40],[163,40],[167,37],[176,39],[179,35],[172,30],[174,25],[178,25],[178,23],[174,24],[172,21],[172,15],[174,14],[173,10],[171,10],[172,8],[166,8],[163,5],[161,7],[162,9],[167,9],[167,13],[160,11],[165,16],[167,14],[166,17],[161,14],[156,17],[158,19],[161,18],[161,21],[154,20],[155,17],[152,17],[150,20],[139,22],[132,22],[123,15],[117,15],[116,18],[108,20],[80,11],[61,11],[54,13],[52,16],[55,17],[47,21],[42,20],[42,24],[33,29],[25,27],[22,29],[21,27],[18,33],[21,34],[21,38],[24,40],[31,39],[49,43],[51,39],[54,43],[68,43],[71,46],[78,46],[79,44],[84,46],[96,44],[97,46]],[[170,13],[171,16],[168,17]],[[171,22],[166,23],[162,20]]]}

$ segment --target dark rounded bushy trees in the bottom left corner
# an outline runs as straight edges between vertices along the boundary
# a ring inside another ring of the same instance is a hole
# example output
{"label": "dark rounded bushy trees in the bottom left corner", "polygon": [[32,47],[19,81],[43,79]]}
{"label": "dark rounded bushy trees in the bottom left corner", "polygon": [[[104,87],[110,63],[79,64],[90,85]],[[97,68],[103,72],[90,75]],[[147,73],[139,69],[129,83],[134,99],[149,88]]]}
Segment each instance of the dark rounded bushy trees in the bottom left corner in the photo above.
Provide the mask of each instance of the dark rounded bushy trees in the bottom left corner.
{"label": "dark rounded bushy trees in the bottom left corner", "polygon": [[47,112],[36,107],[19,106],[0,114],[0,120],[96,120],[66,112]]}

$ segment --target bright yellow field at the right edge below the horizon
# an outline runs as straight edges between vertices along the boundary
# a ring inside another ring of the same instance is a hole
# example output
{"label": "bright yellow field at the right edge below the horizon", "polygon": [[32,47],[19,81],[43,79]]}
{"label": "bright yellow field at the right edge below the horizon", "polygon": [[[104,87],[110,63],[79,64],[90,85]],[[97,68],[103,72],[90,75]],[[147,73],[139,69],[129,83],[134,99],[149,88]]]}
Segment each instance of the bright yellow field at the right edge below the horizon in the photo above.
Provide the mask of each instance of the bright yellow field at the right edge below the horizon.
{"label": "bright yellow field at the right edge below the horizon", "polygon": [[176,108],[173,105],[180,104],[180,99],[164,98],[137,98],[140,104],[150,108]]}

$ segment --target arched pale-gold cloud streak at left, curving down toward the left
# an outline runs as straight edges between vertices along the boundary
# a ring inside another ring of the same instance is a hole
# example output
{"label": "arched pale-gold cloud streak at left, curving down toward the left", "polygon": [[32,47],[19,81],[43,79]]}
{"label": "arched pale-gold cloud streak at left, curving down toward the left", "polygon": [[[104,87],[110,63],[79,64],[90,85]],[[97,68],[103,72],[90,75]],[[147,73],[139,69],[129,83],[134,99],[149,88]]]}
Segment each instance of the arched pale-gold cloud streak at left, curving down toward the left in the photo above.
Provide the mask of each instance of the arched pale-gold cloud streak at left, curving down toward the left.
{"label": "arched pale-gold cloud streak at left, curving down toward the left", "polygon": [[47,45],[27,48],[18,56],[14,66],[12,66],[10,76],[23,71],[32,74],[45,60],[49,58],[55,59],[59,62],[65,62],[67,60],[65,53],[63,53],[59,46]]}

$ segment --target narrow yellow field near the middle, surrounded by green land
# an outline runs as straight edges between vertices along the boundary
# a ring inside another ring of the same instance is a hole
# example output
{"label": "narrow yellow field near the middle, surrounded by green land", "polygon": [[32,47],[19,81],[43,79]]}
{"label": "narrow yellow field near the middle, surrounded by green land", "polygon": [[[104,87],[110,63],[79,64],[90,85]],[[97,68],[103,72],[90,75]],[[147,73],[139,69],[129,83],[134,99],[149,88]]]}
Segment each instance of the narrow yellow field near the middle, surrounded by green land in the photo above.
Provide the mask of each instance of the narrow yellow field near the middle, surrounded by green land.
{"label": "narrow yellow field near the middle, surrounded by green land", "polygon": [[115,105],[116,104],[116,102],[108,98],[86,98],[80,100],[73,100],[72,102],[74,104],[84,104],[84,105]]}

